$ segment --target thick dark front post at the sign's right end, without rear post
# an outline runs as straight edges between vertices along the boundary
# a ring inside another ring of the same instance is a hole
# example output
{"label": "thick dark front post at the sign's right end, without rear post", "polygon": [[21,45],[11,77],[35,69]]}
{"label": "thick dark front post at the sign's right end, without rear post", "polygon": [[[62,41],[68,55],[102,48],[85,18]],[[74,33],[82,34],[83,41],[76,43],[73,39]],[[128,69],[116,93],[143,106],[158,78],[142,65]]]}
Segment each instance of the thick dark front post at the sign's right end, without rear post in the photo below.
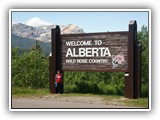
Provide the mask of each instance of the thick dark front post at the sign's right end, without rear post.
{"label": "thick dark front post at the sign's right end, without rear post", "polygon": [[128,36],[128,73],[125,74],[125,97],[137,98],[135,81],[135,45],[137,42],[137,23],[136,21],[129,22]]}

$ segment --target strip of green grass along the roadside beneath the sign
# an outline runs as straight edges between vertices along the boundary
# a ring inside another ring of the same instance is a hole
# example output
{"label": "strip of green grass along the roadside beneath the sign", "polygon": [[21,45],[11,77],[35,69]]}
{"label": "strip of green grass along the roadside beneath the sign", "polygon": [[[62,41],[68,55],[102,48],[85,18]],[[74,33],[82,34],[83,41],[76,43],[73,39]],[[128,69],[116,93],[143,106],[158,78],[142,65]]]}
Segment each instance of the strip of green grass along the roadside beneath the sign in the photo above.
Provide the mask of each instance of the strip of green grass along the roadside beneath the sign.
{"label": "strip of green grass along the roadside beneath the sign", "polygon": [[[49,89],[31,89],[31,88],[12,88],[12,97],[14,98],[34,98],[44,97],[47,95],[56,96],[56,94],[50,94]],[[98,95],[98,94],[81,94],[81,93],[67,93],[61,94],[59,97],[99,97],[108,105],[126,105],[126,106],[139,106],[148,108],[148,98],[128,99],[124,96],[117,95]]]}

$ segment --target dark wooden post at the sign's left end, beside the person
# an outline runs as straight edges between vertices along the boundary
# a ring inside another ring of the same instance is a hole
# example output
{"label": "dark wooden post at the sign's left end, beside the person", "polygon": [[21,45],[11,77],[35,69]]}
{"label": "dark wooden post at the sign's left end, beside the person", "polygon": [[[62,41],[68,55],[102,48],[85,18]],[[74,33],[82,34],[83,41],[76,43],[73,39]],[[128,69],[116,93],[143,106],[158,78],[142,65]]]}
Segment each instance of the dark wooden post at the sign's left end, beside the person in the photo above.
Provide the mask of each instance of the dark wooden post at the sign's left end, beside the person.
{"label": "dark wooden post at the sign's left end, beside the person", "polygon": [[51,30],[51,51],[52,55],[49,57],[49,68],[50,68],[50,92],[55,93],[55,74],[57,70],[62,69],[61,62],[61,38],[60,28],[56,26],[55,29]]}

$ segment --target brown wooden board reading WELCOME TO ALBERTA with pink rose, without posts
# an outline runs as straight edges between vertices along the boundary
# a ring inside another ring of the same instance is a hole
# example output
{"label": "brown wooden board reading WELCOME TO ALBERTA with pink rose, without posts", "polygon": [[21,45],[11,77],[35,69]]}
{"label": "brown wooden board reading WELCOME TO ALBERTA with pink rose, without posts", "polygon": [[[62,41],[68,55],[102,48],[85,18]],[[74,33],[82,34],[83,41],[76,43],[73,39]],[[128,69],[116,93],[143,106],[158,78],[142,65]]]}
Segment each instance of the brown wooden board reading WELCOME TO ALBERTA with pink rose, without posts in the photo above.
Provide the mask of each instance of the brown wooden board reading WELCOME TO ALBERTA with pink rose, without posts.
{"label": "brown wooden board reading WELCOME TO ALBERTA with pink rose, without posts", "polygon": [[126,71],[128,33],[61,35],[62,70]]}

